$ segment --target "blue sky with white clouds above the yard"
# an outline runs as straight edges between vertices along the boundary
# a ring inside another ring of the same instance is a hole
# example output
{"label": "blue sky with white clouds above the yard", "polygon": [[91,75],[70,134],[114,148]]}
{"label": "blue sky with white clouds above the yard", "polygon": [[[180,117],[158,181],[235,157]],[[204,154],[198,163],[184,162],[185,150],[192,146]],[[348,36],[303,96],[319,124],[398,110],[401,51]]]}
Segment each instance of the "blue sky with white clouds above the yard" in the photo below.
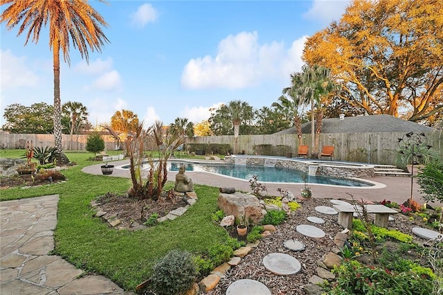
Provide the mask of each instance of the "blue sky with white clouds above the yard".
{"label": "blue sky with white clouds above the yard", "polygon": [[[121,109],[149,126],[199,123],[232,100],[271,107],[300,71],[307,37],[339,20],[349,1],[89,3],[109,25],[109,44],[90,51],[89,64],[71,46],[70,64],[60,61],[62,104],[82,102],[94,126]],[[8,105],[53,105],[53,62],[47,28],[26,46],[26,33],[0,30],[1,126]]]}

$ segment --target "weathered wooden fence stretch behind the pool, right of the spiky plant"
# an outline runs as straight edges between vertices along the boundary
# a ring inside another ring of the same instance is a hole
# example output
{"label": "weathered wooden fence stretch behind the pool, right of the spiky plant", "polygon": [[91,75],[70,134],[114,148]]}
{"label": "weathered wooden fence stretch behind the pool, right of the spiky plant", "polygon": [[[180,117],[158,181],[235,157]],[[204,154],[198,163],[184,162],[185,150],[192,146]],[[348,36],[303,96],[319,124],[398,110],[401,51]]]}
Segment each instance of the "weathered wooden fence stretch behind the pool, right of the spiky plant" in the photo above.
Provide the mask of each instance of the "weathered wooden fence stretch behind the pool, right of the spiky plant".
{"label": "weathered wooden fence stretch behind the pool, right of the spiky plant", "polygon": [[[407,132],[374,132],[374,133],[334,133],[320,134],[319,150],[324,145],[334,145],[334,160],[357,161],[395,165],[398,138]],[[440,153],[443,159],[443,132],[425,132],[428,145]],[[203,136],[192,138],[192,143],[228,143],[234,147],[234,136]],[[298,145],[309,145],[311,150],[311,134],[303,134],[301,143],[296,134],[241,135],[237,140],[238,151],[255,154],[255,145],[288,145],[293,157],[296,157]]]}

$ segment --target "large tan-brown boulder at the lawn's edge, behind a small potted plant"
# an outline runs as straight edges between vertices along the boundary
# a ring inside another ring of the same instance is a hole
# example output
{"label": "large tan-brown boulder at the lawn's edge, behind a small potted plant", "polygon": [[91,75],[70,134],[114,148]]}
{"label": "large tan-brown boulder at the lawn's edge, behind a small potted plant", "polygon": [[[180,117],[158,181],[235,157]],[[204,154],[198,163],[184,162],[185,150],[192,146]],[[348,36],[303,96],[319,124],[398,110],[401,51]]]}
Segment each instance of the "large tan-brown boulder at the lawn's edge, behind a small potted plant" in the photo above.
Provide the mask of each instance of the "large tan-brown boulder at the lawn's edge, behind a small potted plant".
{"label": "large tan-brown boulder at the lawn's edge, behind a small potted plant", "polygon": [[266,214],[257,197],[238,192],[233,194],[220,193],[217,206],[225,215],[234,215],[235,217],[245,215],[255,224],[260,222]]}

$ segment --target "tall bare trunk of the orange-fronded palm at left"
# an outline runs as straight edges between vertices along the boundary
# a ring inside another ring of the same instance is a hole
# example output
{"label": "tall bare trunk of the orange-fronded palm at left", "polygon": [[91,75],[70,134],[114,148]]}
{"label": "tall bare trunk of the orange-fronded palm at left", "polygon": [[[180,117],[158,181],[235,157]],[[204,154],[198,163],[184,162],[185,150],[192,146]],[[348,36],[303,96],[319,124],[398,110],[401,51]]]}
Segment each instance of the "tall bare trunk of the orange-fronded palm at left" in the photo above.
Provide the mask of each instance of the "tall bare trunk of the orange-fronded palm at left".
{"label": "tall bare trunk of the orange-fronded palm at left", "polygon": [[62,105],[60,102],[60,43],[57,37],[53,46],[54,67],[54,138],[57,152],[62,154]]}

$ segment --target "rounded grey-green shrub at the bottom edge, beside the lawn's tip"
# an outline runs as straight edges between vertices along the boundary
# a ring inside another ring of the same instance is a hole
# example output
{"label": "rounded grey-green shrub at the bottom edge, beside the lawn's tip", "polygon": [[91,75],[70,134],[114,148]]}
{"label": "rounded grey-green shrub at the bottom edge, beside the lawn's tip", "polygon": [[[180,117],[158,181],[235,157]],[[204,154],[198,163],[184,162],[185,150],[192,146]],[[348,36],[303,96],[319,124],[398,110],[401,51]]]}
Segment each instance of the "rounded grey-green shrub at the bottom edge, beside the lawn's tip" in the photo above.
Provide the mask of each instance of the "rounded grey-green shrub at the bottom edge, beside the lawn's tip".
{"label": "rounded grey-green shrub at the bottom edge, beside the lawn's tip", "polygon": [[150,286],[156,294],[181,294],[192,287],[197,277],[197,268],[190,253],[172,250],[154,267]]}

